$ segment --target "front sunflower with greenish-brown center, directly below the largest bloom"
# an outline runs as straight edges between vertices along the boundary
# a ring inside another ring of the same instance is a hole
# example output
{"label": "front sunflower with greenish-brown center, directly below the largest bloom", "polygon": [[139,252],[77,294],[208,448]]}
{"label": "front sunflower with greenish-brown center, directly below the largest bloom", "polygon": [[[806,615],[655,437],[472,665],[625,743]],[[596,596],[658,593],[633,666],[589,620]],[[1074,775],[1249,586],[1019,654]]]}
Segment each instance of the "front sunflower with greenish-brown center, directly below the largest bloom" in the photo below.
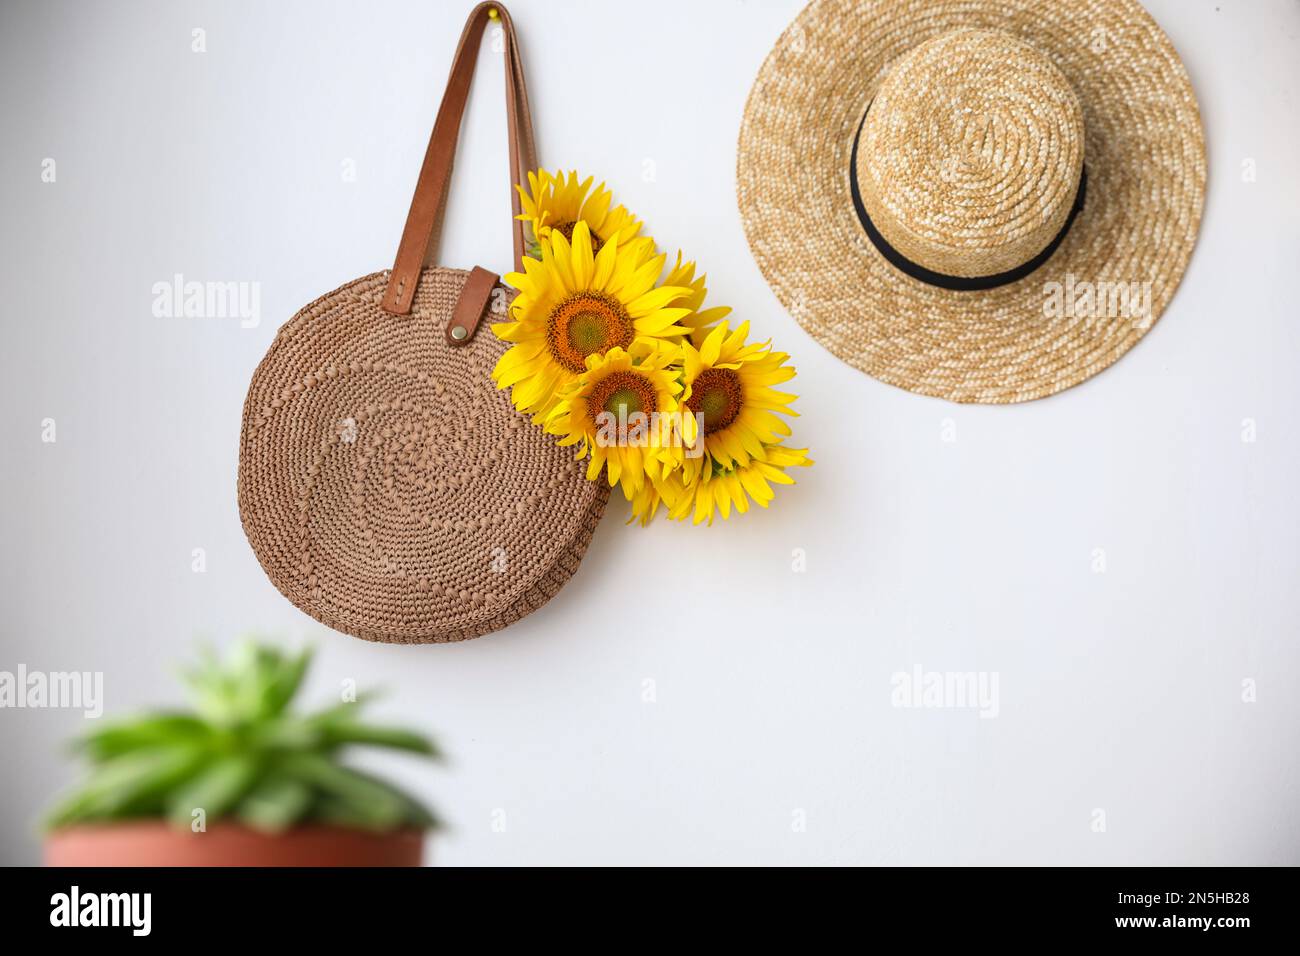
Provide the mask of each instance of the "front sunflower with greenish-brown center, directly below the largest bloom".
{"label": "front sunflower with greenish-brown center, directly below the largest bloom", "polygon": [[578,459],[590,455],[589,481],[603,468],[611,488],[619,485],[637,509],[649,507],[645,520],[658,509],[646,485],[662,481],[672,467],[667,451],[680,408],[680,373],[672,368],[677,355],[650,338],[590,355],[586,372],[560,393],[545,424],[560,445],[577,445]]}

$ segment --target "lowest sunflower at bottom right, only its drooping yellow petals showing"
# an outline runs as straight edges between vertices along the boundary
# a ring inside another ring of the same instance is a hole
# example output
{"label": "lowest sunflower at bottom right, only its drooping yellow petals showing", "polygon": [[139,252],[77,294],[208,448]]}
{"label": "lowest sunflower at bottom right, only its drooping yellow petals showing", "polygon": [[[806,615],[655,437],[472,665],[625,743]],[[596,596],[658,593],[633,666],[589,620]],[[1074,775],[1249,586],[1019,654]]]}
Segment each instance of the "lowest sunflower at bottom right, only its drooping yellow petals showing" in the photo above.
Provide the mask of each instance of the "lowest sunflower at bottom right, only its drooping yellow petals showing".
{"label": "lowest sunflower at bottom right, only its drooping yellow petals showing", "polygon": [[685,520],[693,515],[693,524],[712,524],[715,514],[722,514],[723,520],[731,518],[732,505],[740,514],[749,511],[750,499],[767,507],[775,497],[772,484],[794,484],[794,479],[785,473],[786,468],[812,464],[807,449],[764,444],[760,451],[760,455],[751,455],[746,464],[737,463],[731,468],[705,455],[702,470],[690,483],[685,481],[685,472],[666,476],[660,480],[660,490],[668,506],[668,518]]}

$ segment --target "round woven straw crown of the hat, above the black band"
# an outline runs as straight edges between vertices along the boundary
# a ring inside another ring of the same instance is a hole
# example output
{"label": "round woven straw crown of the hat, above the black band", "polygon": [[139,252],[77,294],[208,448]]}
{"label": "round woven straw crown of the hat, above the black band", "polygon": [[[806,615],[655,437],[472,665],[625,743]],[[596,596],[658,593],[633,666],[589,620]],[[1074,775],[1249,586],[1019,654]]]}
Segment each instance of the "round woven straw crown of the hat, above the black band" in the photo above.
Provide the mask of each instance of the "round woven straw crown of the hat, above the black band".
{"label": "round woven straw crown of the hat, above the black band", "polygon": [[1083,109],[1065,74],[996,30],[904,55],[871,100],[855,176],[885,241],[948,276],[994,276],[1065,226],[1083,170]]}

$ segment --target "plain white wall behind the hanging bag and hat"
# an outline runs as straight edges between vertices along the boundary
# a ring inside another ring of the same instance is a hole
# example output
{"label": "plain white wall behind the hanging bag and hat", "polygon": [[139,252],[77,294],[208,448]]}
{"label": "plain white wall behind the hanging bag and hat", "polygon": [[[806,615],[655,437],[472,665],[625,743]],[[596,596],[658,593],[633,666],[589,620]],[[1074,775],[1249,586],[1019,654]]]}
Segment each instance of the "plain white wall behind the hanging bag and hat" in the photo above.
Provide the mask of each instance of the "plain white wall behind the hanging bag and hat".
{"label": "plain white wall behind the hanging bag and hat", "polygon": [[[378,715],[450,752],[378,763],[451,822],[434,862],[1300,862],[1300,7],[1148,0],[1209,143],[1183,286],[1100,377],[959,407],[833,359],[750,259],[736,135],[798,0],[514,0],[543,163],[606,178],[793,354],[816,466],[711,529],[612,509],[506,632],[369,645],[257,566],[240,405],[282,321],[391,263],[468,7],[4,5],[0,670],[103,671],[122,714],[177,702],[200,636],[315,640],[308,701],[387,687]],[[443,263],[508,265],[504,179],[485,48]],[[153,317],[174,273],[260,282],[260,325]],[[997,672],[998,717],[893,708],[916,665]],[[39,860],[83,728],[0,711],[4,862]]]}

